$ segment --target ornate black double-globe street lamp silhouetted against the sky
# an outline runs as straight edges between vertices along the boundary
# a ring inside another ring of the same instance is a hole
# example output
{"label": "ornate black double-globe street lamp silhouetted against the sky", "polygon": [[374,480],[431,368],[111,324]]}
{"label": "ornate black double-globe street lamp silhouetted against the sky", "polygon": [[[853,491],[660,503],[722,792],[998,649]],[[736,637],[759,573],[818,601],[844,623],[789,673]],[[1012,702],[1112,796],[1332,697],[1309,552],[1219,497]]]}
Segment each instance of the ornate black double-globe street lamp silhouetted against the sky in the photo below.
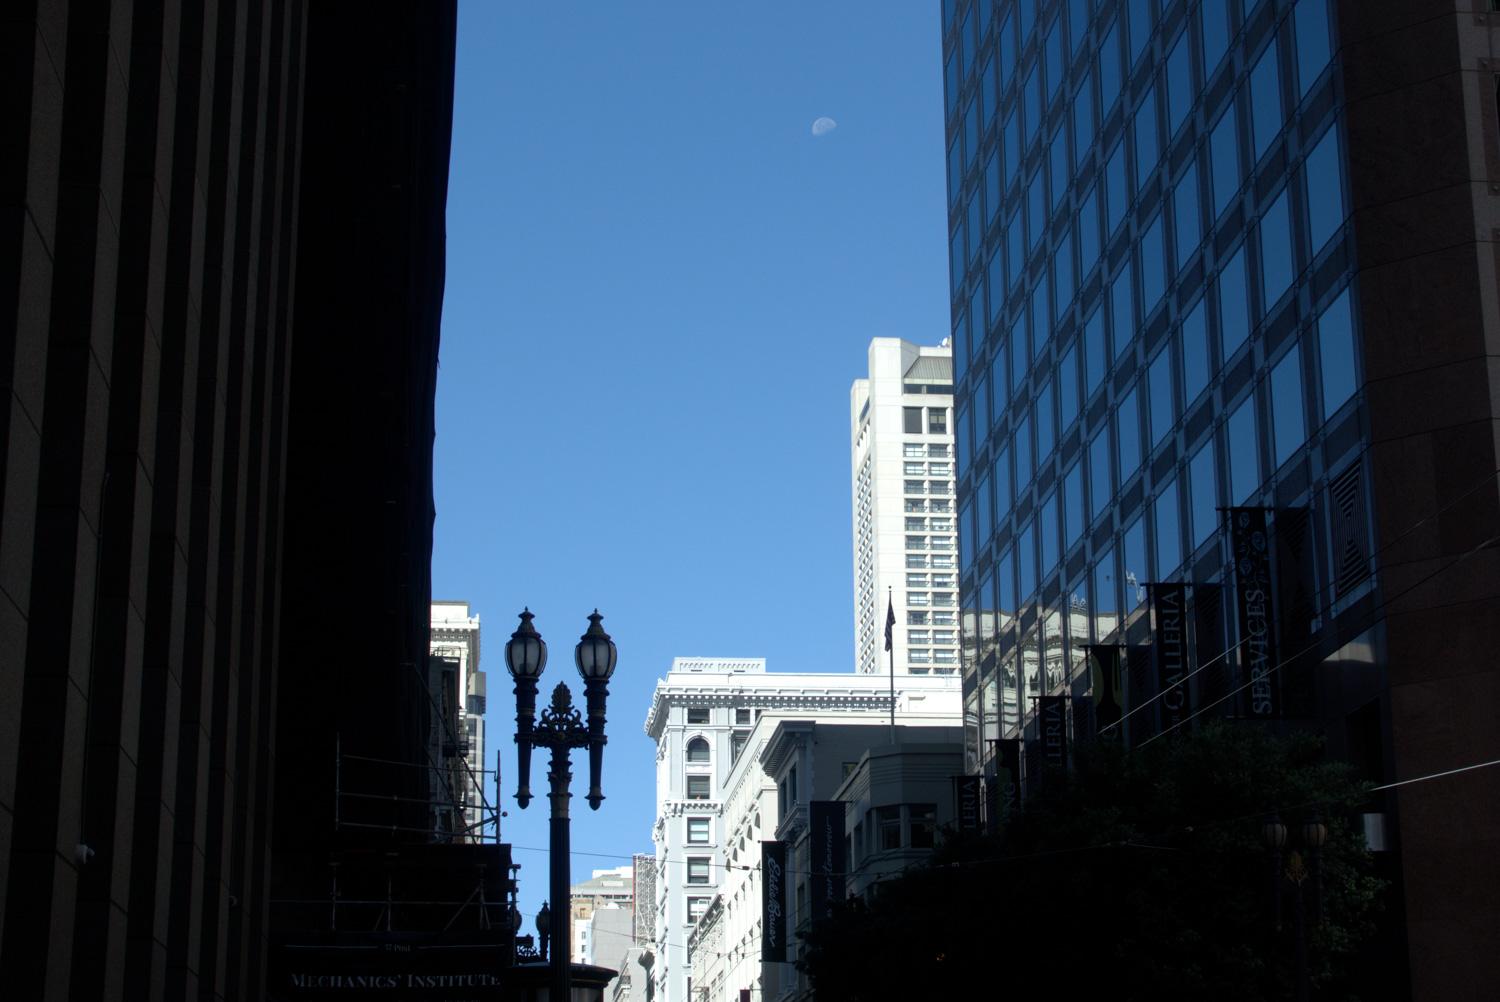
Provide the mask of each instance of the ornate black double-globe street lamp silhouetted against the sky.
{"label": "ornate black double-globe street lamp silhouetted against the sky", "polygon": [[[598,810],[604,794],[598,786],[600,770],[604,762],[604,699],[609,696],[609,676],[615,672],[616,650],[614,640],[598,626],[602,615],[594,609],[588,618],[588,630],[573,648],[573,663],[578,674],[584,676],[584,694],[588,706],[588,723],[573,706],[573,693],[567,686],[558,682],[552,690],[552,705],[542,711],[542,722],[536,723],[537,712],[537,680],[548,664],[548,645],[531,626],[531,609],[520,614],[520,628],[510,634],[506,644],[506,668],[516,680],[516,746],[520,756],[518,770],[519,788],[516,801],[525,807],[531,802],[531,748],[550,748],[552,764],[548,770],[552,800],[552,838],[550,838],[550,870],[549,885],[552,900],[558,903],[558,914],[549,922],[546,938],[550,939],[550,999],[567,1002],[573,998],[570,950],[567,944],[566,916],[568,915],[568,813],[567,802],[572,800],[568,784],[573,780],[573,764],[568,753],[573,748],[588,748],[588,806]],[[544,906],[543,906],[544,908]]]}

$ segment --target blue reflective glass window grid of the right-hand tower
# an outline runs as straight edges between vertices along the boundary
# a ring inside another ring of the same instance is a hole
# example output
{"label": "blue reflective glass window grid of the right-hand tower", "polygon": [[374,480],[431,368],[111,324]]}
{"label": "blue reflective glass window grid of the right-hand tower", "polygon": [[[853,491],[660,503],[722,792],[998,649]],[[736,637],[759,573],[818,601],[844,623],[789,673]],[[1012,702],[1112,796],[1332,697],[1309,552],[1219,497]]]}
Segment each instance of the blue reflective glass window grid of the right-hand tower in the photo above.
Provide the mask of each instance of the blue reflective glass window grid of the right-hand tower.
{"label": "blue reflective glass window grid of the right-hand tower", "polygon": [[1234,645],[1224,507],[1294,513],[1282,633],[1371,588],[1332,38],[1328,0],[944,4],[970,770],[1149,642],[1149,582],[1194,585],[1198,663]]}

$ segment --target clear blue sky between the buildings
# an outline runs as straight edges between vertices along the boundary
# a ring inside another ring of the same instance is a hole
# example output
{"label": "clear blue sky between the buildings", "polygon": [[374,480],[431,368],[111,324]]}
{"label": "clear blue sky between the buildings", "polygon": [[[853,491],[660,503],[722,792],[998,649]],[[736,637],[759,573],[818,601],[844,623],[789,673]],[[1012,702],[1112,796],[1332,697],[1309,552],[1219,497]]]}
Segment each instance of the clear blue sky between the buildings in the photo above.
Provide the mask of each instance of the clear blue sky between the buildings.
{"label": "clear blue sky between the buildings", "polygon": [[574,753],[574,880],[652,850],[642,724],[672,657],[854,670],[849,382],[870,338],[948,326],[939,12],[460,3],[456,84],[432,592],[483,620],[530,930],[522,606],[543,698],[582,696],[596,606],[620,646],[597,813]]}

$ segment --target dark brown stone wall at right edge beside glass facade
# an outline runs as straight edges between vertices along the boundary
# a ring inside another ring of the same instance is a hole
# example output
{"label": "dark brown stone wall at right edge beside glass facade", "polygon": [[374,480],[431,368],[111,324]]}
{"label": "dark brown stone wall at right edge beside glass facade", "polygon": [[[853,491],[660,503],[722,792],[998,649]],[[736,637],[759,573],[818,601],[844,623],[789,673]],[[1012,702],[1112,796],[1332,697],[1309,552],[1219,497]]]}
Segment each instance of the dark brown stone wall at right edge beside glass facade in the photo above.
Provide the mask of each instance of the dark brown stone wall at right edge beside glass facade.
{"label": "dark brown stone wall at right edge beside glass facade", "polygon": [[[1500,759],[1500,14],[1341,0],[1338,32],[1390,782]],[[1500,980],[1500,770],[1394,806],[1412,996],[1482,999]]]}

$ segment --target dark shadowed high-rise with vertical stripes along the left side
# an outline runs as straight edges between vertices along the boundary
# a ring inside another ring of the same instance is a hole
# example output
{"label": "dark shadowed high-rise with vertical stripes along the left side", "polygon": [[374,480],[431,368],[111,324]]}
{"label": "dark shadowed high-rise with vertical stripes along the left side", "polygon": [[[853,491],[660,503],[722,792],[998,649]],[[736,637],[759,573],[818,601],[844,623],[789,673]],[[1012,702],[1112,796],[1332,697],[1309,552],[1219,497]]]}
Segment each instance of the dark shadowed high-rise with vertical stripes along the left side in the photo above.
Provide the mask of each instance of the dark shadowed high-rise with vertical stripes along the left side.
{"label": "dark shadowed high-rise with vertical stripes along the left side", "polygon": [[452,2],[0,14],[8,998],[264,998],[333,862],[429,840],[453,46]]}

